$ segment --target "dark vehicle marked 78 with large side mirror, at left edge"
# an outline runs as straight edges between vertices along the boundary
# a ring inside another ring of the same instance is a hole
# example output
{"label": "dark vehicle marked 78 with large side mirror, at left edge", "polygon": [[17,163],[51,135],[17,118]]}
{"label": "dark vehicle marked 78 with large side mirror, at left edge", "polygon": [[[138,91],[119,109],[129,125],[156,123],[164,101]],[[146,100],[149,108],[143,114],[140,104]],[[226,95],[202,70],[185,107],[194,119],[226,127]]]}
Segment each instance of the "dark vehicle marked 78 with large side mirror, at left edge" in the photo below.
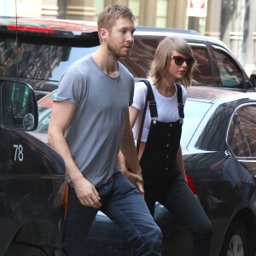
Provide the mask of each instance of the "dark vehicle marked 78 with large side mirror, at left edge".
{"label": "dark vehicle marked 78 with large side mirror, at left edge", "polygon": [[28,84],[0,80],[0,255],[61,256],[65,166],[26,131],[38,126]]}

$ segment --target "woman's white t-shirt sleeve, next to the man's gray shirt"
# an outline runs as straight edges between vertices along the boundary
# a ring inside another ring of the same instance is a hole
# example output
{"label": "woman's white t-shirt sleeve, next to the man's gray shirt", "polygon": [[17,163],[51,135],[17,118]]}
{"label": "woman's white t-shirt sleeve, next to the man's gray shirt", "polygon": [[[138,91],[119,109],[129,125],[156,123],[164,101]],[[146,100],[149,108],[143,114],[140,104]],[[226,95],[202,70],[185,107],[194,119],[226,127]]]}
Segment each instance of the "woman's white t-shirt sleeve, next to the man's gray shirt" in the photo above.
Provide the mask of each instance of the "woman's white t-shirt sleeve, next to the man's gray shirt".
{"label": "woman's white t-shirt sleeve, next to the man's gray shirt", "polygon": [[146,97],[148,93],[148,87],[143,82],[138,82],[134,87],[134,96],[132,107],[142,110],[145,106]]}

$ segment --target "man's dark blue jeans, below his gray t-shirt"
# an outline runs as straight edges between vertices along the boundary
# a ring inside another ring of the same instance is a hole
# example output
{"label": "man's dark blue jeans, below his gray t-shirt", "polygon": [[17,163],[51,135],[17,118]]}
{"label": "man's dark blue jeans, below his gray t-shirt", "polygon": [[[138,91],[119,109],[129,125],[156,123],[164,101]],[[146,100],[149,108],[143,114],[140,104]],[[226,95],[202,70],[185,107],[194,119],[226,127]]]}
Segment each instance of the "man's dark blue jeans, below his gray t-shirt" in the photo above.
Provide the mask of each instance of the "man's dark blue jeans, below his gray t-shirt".
{"label": "man's dark blue jeans, below his gray t-shirt", "polygon": [[[155,224],[143,196],[120,172],[97,189],[108,218],[125,231],[136,255],[161,255],[162,233]],[[84,242],[97,210],[80,204],[74,189],[69,189],[69,203],[62,248],[67,256],[83,256]]]}

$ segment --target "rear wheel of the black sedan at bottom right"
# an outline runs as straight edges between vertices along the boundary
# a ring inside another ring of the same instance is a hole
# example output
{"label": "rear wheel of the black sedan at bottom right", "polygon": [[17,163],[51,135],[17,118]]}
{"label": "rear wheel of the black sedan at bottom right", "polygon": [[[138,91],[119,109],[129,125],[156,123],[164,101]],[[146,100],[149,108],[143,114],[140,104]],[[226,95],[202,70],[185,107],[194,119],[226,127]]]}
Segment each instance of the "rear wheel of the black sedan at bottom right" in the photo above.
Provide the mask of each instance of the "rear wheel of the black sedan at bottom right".
{"label": "rear wheel of the black sedan at bottom right", "polygon": [[224,238],[224,243],[219,256],[247,256],[248,235],[244,224],[239,221],[230,225]]}

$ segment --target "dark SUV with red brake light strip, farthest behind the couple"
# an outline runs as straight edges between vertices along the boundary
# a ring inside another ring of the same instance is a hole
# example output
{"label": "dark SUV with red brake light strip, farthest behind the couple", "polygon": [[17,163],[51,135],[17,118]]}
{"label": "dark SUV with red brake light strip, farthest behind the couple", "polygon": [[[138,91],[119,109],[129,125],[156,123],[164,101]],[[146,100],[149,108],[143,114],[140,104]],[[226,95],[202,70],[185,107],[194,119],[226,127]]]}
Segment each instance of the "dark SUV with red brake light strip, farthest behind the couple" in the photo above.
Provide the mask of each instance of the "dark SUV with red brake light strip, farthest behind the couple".
{"label": "dark SUV with red brake light strip, farthest behind the couple", "polygon": [[[38,99],[55,90],[61,74],[81,56],[99,47],[96,22],[0,17],[0,78],[32,85]],[[218,39],[182,29],[137,26],[128,59],[121,60],[136,80],[147,77],[159,42],[182,37],[198,63],[193,85],[255,91],[256,74],[248,78],[241,63]]]}

